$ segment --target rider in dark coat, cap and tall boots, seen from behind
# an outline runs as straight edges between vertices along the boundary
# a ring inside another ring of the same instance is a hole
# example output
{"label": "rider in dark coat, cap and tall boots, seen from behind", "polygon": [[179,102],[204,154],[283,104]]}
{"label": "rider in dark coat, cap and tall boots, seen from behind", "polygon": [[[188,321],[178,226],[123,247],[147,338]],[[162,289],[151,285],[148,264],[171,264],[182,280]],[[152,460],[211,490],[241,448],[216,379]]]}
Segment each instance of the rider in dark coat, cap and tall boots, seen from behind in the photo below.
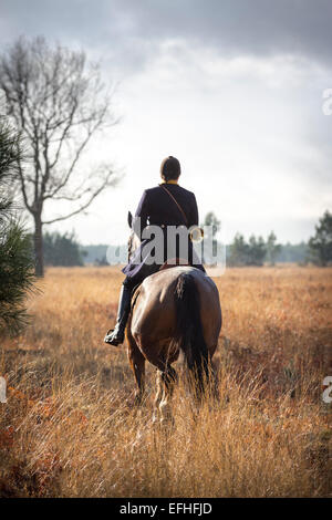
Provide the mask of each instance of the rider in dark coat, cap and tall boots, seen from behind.
{"label": "rider in dark coat, cap and tall boots, seen from behind", "polygon": [[[135,232],[142,236],[146,226],[159,226],[165,231],[167,226],[185,226],[190,228],[198,226],[198,209],[195,195],[191,191],[178,185],[180,176],[180,164],[177,158],[166,157],[160,166],[160,176],[163,183],[155,188],[146,189],[139,201],[137,211],[135,214],[135,221],[139,222],[134,229]],[[141,219],[141,220],[139,220]],[[164,232],[166,238],[166,233]],[[115,329],[108,331],[104,342],[111,345],[118,345],[124,341],[124,331],[131,311],[131,297],[133,289],[143,282],[143,280],[158,271],[159,263],[146,261],[146,258],[137,261],[142,253],[142,246],[145,246],[148,240],[143,240],[141,247],[135,252],[135,258],[123,269],[126,278],[122,284],[118,311]],[[164,240],[164,258],[163,261],[169,260],[167,253],[167,240]],[[177,249],[178,251],[178,249]],[[179,254],[176,254],[179,257]],[[196,268],[205,271],[204,267],[199,263],[198,259],[193,259],[193,243],[188,242],[188,263],[194,264]]]}

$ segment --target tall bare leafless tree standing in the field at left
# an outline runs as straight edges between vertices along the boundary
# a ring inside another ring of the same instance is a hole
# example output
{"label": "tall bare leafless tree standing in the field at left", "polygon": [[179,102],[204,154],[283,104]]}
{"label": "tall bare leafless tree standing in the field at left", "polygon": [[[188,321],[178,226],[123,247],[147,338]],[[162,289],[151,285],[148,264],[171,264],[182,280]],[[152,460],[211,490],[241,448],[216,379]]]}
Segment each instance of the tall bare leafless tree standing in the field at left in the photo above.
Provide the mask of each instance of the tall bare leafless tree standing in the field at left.
{"label": "tall bare leafless tree standing in the field at left", "polygon": [[[30,157],[24,169],[19,164],[18,177],[34,220],[35,272],[42,277],[43,225],[84,211],[116,181],[110,165],[98,164],[91,173],[79,163],[97,132],[118,119],[98,66],[89,64],[84,52],[52,48],[42,37],[20,38],[0,56],[0,89]],[[49,200],[66,200],[71,209],[43,220]]]}

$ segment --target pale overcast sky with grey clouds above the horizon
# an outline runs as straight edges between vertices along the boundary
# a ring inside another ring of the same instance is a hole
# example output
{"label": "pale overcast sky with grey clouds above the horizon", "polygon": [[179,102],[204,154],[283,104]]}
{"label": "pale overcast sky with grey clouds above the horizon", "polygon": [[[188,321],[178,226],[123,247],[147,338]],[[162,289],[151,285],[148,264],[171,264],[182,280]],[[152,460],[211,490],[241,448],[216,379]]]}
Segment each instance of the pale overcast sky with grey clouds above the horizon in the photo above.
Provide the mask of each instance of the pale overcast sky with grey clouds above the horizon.
{"label": "pale overcast sky with grey clouds above the horizon", "polygon": [[[307,240],[332,206],[330,0],[0,0],[0,44],[44,34],[101,60],[122,123],[86,160],[124,173],[87,216],[54,225],[118,243],[126,214],[176,156],[180,184],[224,239]],[[44,217],[59,215],[49,207]]]}

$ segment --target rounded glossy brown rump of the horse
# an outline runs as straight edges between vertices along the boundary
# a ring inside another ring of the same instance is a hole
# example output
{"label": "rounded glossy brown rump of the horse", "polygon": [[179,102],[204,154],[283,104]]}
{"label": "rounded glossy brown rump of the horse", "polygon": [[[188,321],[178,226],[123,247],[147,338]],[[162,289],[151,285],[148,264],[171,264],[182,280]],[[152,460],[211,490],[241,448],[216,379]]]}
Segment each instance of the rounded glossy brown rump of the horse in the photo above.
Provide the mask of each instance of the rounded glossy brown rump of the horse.
{"label": "rounded glossy brown rump of the horse", "polygon": [[[221,326],[218,290],[209,277],[193,267],[158,271],[139,285],[129,326],[152,363],[158,351],[162,354],[160,345],[163,352],[166,346],[168,351],[175,346],[185,350],[189,335],[195,352],[200,343],[203,352],[206,345],[212,355]],[[185,355],[190,365],[188,347]]]}

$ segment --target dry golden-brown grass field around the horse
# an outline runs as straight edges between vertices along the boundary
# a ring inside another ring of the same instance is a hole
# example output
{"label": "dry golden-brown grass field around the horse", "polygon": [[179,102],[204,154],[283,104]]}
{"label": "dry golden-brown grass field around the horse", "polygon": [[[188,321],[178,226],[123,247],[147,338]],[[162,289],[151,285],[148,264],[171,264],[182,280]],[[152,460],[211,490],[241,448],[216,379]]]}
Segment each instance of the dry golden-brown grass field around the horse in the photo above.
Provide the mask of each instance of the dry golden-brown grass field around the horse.
{"label": "dry golden-brown grass field around the horse", "polygon": [[122,274],[49,269],[30,327],[0,345],[2,497],[331,496],[332,269],[228,269],[216,279],[224,326],[217,397],[186,386],[173,427],[133,406],[126,349],[103,344]]}

